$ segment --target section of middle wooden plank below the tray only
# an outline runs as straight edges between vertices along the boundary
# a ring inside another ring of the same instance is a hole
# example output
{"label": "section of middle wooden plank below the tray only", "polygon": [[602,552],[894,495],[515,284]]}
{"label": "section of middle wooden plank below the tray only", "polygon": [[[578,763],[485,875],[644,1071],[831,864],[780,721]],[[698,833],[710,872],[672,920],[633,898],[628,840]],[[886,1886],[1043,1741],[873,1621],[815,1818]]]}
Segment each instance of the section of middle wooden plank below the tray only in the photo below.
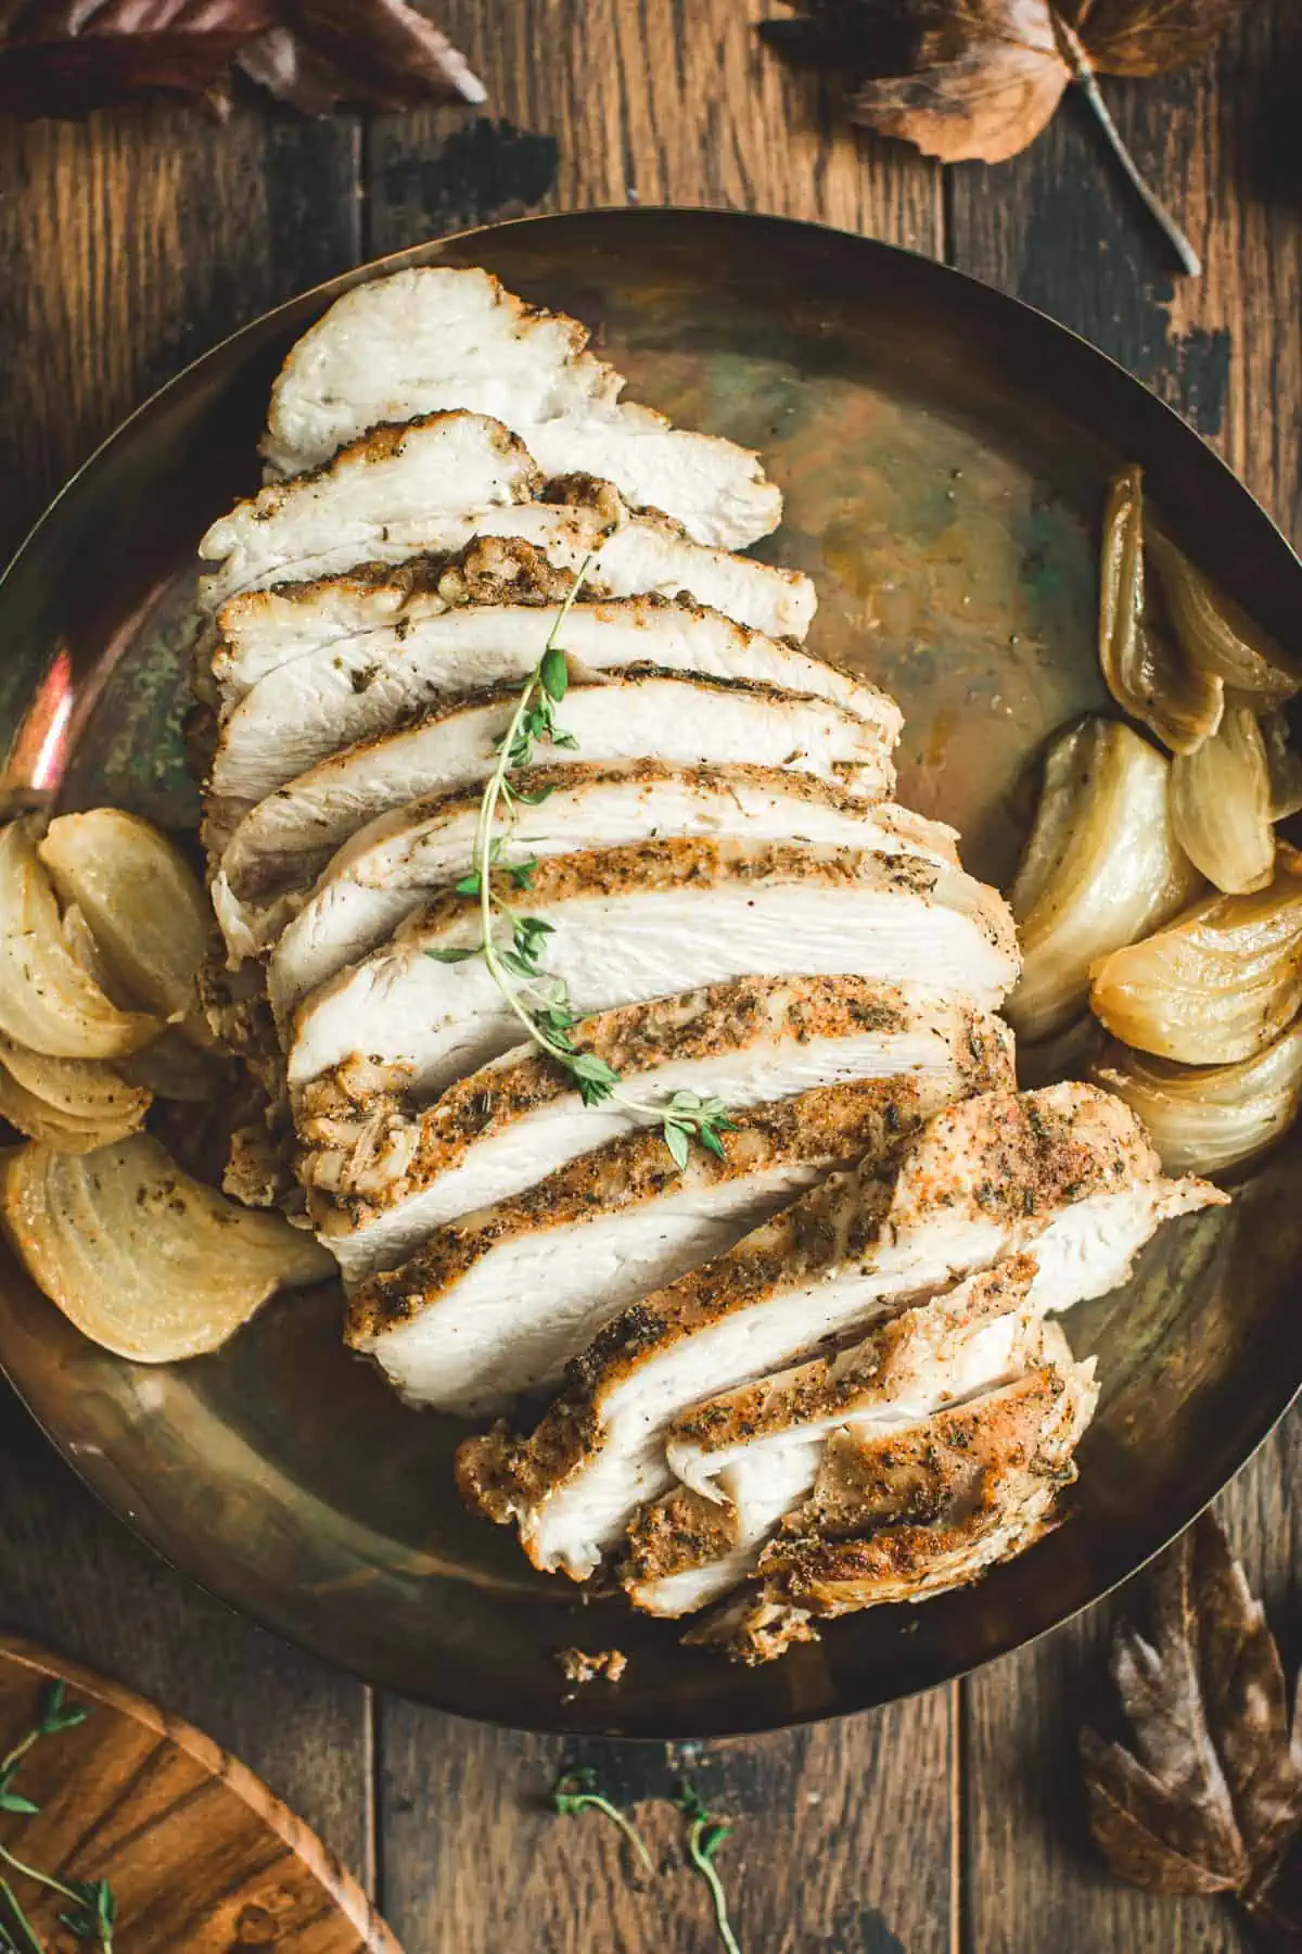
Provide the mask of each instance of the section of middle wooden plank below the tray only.
{"label": "section of middle wooden plank below the tray only", "polygon": [[[597,1686],[597,1684],[593,1684]],[[949,1692],[738,1745],[597,1745],[459,1723],[383,1700],[385,1911],[408,1954],[711,1954],[709,1899],[664,1804],[687,1772],[736,1821],[718,1868],[755,1954],[941,1954],[951,1946]],[[644,1880],[609,1821],[549,1792],[593,1764],[646,1837]],[[527,1923],[527,1929],[519,1923]],[[523,1944],[523,1940],[521,1940]]]}

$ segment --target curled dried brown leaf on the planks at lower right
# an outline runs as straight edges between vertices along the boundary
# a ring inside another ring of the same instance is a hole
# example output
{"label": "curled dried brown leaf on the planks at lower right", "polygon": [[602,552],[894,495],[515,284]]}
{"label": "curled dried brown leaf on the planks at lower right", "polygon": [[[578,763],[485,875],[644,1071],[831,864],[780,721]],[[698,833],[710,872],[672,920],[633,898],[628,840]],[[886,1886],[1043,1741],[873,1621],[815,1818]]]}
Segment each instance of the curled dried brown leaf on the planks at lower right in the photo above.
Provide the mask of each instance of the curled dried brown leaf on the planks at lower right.
{"label": "curled dried brown leaf on the planks at lower right", "polygon": [[1275,1882],[1302,1825],[1302,1710],[1290,1723],[1279,1649],[1212,1514],[1150,1593],[1152,1639],[1122,1626],[1113,1643],[1132,1749],[1081,1731],[1091,1831],[1119,1878],[1234,1893],[1273,1944],[1300,1944]]}

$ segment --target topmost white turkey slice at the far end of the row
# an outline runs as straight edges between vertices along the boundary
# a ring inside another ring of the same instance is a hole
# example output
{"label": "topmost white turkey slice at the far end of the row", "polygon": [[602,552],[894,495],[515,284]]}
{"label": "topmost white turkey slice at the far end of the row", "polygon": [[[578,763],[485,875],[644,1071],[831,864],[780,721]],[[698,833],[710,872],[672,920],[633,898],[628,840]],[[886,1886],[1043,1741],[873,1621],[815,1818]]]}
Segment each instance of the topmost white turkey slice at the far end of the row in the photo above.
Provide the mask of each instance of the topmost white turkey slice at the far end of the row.
{"label": "topmost white turkey slice at the far end of the row", "polygon": [[744,549],[777,528],[781,492],[750,449],[621,404],[623,377],[586,346],[578,320],[488,272],[394,272],[336,299],[291,350],[264,455],[295,475],[379,422],[463,406],[519,434],[545,475],[607,477],[701,543]]}

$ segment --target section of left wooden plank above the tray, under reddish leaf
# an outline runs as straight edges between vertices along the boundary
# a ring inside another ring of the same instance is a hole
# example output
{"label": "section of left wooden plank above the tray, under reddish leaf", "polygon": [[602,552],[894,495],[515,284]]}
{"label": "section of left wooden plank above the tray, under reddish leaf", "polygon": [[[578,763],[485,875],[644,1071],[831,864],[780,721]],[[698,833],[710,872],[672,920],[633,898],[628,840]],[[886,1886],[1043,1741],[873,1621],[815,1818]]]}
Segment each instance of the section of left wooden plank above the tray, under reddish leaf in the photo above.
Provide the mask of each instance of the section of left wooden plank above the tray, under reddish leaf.
{"label": "section of left wooden plank above the tray, under reddish leaf", "polygon": [[185,361],[357,262],[357,131],[244,102],[0,119],[0,557]]}

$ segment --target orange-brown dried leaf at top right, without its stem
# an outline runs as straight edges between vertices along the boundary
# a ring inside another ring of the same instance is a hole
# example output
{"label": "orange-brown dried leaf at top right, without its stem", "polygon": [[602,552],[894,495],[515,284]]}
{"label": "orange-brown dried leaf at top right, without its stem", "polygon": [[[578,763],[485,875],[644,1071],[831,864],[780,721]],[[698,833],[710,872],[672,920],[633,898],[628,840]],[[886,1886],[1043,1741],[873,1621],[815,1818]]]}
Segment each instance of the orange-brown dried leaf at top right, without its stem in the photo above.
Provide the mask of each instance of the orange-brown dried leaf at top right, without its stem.
{"label": "orange-brown dried leaf at top right, without its stem", "polygon": [[[1076,78],[1200,59],[1243,0],[804,0],[769,39],[851,82],[851,115],[945,162],[1003,162]],[[1062,29],[1070,29],[1064,33]]]}

